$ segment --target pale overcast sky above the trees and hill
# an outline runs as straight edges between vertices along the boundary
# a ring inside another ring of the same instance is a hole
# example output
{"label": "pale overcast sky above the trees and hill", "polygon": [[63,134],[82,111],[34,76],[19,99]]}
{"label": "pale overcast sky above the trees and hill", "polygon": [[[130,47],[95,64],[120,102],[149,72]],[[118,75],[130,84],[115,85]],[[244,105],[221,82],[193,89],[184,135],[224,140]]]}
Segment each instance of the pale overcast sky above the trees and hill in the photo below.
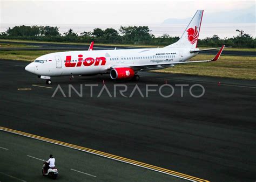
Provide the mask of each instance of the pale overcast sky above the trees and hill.
{"label": "pale overcast sky above the trees and hill", "polygon": [[146,25],[168,18],[245,9],[255,1],[6,1],[0,0],[0,24],[119,24]]}

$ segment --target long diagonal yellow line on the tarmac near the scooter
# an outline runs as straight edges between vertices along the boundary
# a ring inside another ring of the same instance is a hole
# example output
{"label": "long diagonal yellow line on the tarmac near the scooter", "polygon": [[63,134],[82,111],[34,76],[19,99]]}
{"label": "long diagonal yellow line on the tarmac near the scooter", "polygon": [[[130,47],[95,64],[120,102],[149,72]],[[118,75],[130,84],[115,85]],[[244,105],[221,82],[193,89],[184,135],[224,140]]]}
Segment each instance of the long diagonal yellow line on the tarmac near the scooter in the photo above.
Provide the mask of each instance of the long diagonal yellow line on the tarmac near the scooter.
{"label": "long diagonal yellow line on the tarmac near the scooter", "polygon": [[89,149],[89,148],[84,148],[83,146],[78,146],[78,145],[73,145],[73,144],[69,144],[69,143],[65,143],[65,142],[60,142],[60,141],[56,141],[56,140],[50,139],[50,138],[45,138],[45,137],[41,137],[41,136],[37,136],[37,135],[32,135],[32,134],[28,134],[28,133],[22,132],[22,131],[12,130],[12,129],[9,129],[9,128],[4,128],[4,127],[0,127],[0,130],[7,131],[7,132],[12,132],[14,134],[18,134],[18,135],[22,135],[22,136],[26,136],[26,137],[30,137],[30,138],[34,138],[34,139],[38,139],[38,140],[41,140],[41,141],[45,141],[45,142],[49,142],[49,143],[53,143],[53,144],[57,144],[57,145],[66,146],[68,148],[72,148],[72,149],[76,149],[76,150],[80,150],[80,151],[84,151],[84,152],[88,152],[88,153],[93,153],[93,154],[98,155],[98,156],[118,160],[120,162],[136,165],[136,166],[139,166],[139,167],[144,167],[146,169],[150,169],[150,170],[153,170],[153,171],[169,174],[171,176],[178,177],[178,178],[183,178],[183,179],[190,180],[190,181],[202,181],[202,182],[203,181],[205,181],[205,182],[208,181],[208,180],[205,180],[205,179],[192,177],[192,176],[189,176],[187,174],[179,173],[179,172],[176,172],[176,171],[164,169],[164,168],[161,168],[161,167],[153,166],[153,165],[142,163],[142,162],[138,162],[136,160],[127,159],[127,158],[120,157],[120,156],[115,156],[115,155],[112,155],[110,153],[105,153],[105,152],[101,152],[101,151],[97,151],[97,150],[93,150],[93,149]]}

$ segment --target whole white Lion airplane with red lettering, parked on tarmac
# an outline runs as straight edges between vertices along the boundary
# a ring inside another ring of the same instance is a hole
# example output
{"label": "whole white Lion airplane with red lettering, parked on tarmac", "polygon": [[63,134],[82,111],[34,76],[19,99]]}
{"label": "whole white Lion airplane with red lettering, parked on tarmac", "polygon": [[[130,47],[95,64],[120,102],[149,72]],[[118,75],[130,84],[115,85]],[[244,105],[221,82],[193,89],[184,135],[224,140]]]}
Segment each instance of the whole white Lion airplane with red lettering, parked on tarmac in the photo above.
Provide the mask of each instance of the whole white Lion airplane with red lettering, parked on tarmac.
{"label": "whole white Lion airplane with red lettering, parked on tarmac", "polygon": [[[225,45],[199,50],[198,36],[204,10],[197,10],[180,39],[163,48],[137,48],[129,50],[92,50],[56,52],[42,55],[25,67],[25,70],[46,79],[51,84],[53,76],[109,74],[113,80],[139,80],[139,71],[172,67],[178,64],[211,62],[219,59]],[[218,50],[211,60],[187,61],[200,51]]]}

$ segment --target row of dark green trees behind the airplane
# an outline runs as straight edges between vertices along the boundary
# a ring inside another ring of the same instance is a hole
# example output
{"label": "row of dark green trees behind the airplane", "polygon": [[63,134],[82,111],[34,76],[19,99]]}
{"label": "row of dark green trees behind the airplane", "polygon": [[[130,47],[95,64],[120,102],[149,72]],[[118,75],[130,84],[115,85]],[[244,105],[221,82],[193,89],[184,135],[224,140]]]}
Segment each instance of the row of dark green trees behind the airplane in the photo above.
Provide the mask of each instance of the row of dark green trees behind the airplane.
{"label": "row of dark green trees behind the airplane", "polygon": [[[15,26],[0,33],[2,39],[23,39],[38,41],[58,41],[105,44],[133,44],[133,45],[170,45],[179,40],[179,37],[171,37],[168,34],[156,37],[150,33],[148,26],[120,26],[119,30],[107,28],[105,30],[96,28],[93,31],[77,34],[69,29],[63,34],[59,33],[57,26]],[[256,40],[249,34],[239,34],[233,38],[221,39],[217,35],[205,39],[199,39],[201,47],[220,46],[225,44],[232,47],[256,47]]]}

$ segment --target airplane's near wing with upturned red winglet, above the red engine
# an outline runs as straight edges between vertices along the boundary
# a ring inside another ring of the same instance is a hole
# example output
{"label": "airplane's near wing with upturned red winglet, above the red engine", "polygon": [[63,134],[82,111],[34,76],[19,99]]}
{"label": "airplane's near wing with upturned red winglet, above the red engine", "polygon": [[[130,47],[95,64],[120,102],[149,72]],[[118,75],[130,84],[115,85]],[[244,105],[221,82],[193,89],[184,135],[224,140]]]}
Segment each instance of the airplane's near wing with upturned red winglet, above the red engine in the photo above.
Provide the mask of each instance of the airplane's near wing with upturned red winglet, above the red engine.
{"label": "airplane's near wing with upturned red winglet, above the red engine", "polygon": [[111,66],[107,68],[107,70],[110,70],[112,68],[117,68],[117,67],[131,67],[134,69],[134,71],[146,71],[146,70],[151,70],[151,69],[162,69],[165,67],[171,67],[174,65],[178,64],[192,64],[192,63],[197,63],[197,62],[211,62],[211,61],[217,61],[224,49],[225,45],[223,45],[219,52],[215,55],[215,57],[211,60],[202,60],[202,61],[184,61],[184,62],[171,62],[171,63],[165,63],[165,64],[151,64],[151,65],[117,65],[117,66]]}

